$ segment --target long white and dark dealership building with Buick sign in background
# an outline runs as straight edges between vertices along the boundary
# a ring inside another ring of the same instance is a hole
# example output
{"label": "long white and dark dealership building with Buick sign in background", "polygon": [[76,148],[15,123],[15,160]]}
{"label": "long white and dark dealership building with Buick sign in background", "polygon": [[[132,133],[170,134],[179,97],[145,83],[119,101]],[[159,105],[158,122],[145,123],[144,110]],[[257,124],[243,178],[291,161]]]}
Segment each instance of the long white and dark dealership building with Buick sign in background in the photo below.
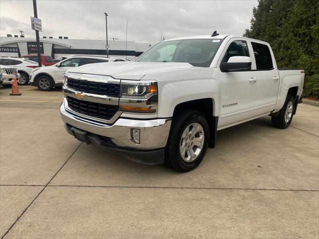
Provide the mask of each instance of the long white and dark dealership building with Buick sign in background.
{"label": "long white and dark dealership building with Buick sign in background", "polygon": [[[134,60],[154,43],[109,40],[109,57],[121,57]],[[106,56],[106,40],[40,38],[40,51],[43,55],[60,59],[65,55],[101,55]],[[36,54],[35,38],[0,37],[0,56],[20,57]]]}

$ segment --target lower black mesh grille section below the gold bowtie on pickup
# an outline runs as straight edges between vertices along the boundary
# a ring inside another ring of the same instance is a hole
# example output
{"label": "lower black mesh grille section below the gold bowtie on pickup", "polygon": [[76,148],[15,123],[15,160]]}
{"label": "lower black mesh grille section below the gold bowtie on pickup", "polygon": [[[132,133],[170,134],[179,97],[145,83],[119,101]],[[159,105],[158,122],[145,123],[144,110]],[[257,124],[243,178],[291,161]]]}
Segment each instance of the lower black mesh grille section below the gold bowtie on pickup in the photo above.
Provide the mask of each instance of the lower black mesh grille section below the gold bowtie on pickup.
{"label": "lower black mesh grille section below the gold bowtie on pickup", "polygon": [[110,120],[119,111],[119,106],[81,101],[69,96],[66,97],[66,100],[72,111],[94,118]]}

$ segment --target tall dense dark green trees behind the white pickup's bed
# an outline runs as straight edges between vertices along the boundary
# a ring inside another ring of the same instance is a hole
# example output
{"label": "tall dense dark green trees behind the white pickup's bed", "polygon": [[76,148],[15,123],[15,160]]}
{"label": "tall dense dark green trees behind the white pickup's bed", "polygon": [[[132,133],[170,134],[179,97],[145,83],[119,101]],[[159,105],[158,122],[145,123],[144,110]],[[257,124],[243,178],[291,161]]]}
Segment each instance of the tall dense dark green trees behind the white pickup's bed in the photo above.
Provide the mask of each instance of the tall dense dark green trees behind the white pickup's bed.
{"label": "tall dense dark green trees behind the white pickup's bed", "polygon": [[269,42],[279,68],[304,69],[304,95],[319,99],[318,0],[259,0],[244,36]]}

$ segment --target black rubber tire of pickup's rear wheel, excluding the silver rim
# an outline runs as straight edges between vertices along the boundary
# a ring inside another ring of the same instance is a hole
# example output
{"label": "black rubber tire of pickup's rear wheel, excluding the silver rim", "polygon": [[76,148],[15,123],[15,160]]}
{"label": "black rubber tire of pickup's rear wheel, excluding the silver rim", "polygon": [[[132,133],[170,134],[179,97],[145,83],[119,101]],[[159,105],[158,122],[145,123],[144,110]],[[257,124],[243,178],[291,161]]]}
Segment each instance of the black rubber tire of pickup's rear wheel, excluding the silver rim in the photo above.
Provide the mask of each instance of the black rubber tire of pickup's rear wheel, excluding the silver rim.
{"label": "black rubber tire of pickup's rear wheel, excluding the silver rim", "polygon": [[[285,114],[286,114],[286,110],[288,106],[292,107],[291,109],[292,112],[291,112],[291,117],[289,121],[286,121]],[[283,108],[279,112],[279,115],[271,117],[271,122],[273,126],[276,128],[287,128],[290,125],[291,121],[293,120],[294,112],[295,112],[295,99],[293,96],[288,95]]]}

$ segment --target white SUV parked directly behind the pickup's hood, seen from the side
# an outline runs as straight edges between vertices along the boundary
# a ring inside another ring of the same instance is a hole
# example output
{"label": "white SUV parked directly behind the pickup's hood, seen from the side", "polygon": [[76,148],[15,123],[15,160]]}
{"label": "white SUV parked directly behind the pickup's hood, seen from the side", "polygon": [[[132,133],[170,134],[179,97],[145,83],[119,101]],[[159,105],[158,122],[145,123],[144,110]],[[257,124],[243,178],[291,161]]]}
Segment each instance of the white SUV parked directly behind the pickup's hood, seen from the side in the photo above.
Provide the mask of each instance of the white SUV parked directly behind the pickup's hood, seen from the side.
{"label": "white SUV parked directly behind the pickup's hood, seen from the side", "polygon": [[62,86],[63,74],[72,68],[91,63],[109,62],[110,58],[98,56],[73,56],[52,66],[35,68],[30,73],[30,84],[41,91],[51,91]]}

